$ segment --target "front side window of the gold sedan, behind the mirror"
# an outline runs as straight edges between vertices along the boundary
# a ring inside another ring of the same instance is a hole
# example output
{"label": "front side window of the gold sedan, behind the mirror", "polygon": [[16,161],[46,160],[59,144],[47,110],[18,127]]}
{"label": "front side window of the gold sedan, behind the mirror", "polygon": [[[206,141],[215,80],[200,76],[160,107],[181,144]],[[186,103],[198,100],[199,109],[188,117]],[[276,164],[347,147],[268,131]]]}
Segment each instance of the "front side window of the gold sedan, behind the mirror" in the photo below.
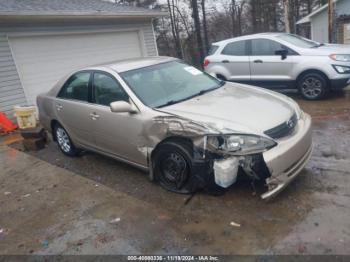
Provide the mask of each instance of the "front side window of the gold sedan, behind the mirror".
{"label": "front side window of the gold sedan, behind the mirror", "polygon": [[129,101],[119,82],[112,76],[104,73],[94,73],[93,90],[95,103],[109,106],[115,101]]}

